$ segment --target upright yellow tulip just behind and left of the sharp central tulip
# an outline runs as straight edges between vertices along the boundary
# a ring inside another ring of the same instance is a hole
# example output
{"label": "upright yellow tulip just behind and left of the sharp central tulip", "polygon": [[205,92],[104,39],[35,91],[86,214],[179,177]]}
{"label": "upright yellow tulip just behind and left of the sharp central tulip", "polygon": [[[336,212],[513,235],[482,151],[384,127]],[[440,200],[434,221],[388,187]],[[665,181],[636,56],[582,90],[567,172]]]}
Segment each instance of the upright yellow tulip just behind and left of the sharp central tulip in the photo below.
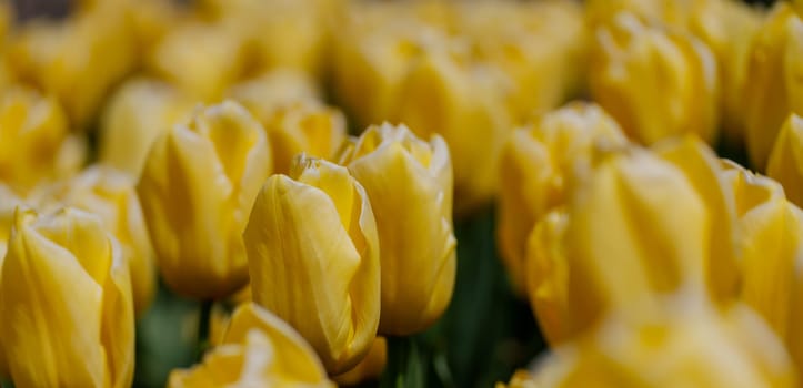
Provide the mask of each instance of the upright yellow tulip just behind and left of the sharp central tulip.
{"label": "upright yellow tulip just behind and left of the sharp central tulip", "polygon": [[197,110],[155,141],[137,192],[173,290],[219,298],[248,282],[242,232],[270,157],[262,126],[228,101]]}

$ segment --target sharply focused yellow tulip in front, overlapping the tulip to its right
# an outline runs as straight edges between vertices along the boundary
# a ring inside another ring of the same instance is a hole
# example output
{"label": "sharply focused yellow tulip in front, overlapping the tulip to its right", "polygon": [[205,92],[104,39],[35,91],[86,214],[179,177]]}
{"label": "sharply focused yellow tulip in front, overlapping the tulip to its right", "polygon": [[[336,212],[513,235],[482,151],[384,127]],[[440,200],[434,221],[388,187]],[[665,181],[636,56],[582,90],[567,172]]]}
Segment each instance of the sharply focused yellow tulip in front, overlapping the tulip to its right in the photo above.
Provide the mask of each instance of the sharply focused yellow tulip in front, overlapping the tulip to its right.
{"label": "sharply focused yellow tulip in front, overlapping the tulip to its right", "polygon": [[293,326],[327,371],[351,369],[380,317],[377,225],[345,167],[303,154],[262,186],[243,233],[257,304]]}

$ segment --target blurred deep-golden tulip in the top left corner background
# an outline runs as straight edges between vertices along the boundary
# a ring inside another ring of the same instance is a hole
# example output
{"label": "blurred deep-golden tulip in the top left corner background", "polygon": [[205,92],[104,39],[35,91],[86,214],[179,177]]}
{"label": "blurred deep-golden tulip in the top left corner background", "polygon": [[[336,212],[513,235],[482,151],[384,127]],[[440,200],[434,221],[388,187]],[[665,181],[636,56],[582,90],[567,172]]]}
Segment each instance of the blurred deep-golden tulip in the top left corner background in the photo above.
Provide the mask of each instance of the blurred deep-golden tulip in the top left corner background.
{"label": "blurred deep-golden tulip in the top left corner background", "polygon": [[58,96],[72,129],[82,130],[135,65],[135,40],[124,10],[101,2],[64,21],[26,23],[9,58],[22,80]]}

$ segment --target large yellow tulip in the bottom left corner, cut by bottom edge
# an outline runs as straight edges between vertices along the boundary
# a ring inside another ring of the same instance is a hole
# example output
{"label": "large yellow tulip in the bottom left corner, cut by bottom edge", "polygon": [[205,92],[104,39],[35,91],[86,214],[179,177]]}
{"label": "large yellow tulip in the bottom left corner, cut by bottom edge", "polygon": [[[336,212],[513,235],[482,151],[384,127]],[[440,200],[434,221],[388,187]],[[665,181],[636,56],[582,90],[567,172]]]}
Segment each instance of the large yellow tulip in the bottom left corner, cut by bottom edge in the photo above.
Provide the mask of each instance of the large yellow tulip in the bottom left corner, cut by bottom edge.
{"label": "large yellow tulip in the bottom left corner, cut by bottom edge", "polygon": [[0,280],[0,336],[20,387],[130,387],[128,266],[98,217],[18,208]]}

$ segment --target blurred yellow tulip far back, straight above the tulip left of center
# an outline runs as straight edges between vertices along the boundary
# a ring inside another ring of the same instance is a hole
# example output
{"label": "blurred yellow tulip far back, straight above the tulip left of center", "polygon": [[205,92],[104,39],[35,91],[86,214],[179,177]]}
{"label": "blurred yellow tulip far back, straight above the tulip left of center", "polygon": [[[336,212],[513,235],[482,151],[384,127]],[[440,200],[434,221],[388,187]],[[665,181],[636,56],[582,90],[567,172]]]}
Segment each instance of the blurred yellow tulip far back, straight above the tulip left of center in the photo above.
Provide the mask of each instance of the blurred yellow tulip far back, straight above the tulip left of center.
{"label": "blurred yellow tulip far back, straight above the tulip left of center", "polygon": [[188,95],[213,102],[243,75],[245,47],[225,25],[188,21],[153,48],[147,65]]}

